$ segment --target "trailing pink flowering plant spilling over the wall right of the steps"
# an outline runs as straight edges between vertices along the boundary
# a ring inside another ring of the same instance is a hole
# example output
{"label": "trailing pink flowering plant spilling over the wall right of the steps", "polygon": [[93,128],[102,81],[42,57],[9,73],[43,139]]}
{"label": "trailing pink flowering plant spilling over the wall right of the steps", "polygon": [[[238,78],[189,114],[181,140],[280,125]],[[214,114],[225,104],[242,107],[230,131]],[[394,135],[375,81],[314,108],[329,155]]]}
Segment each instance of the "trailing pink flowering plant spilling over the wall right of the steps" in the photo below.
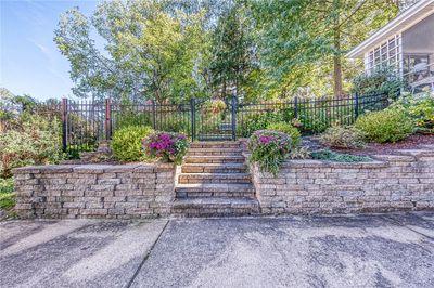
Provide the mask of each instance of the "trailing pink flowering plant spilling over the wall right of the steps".
{"label": "trailing pink flowering plant spilling over the wall right of the steps", "polygon": [[260,170],[276,176],[291,152],[292,142],[285,133],[258,130],[248,140],[247,148],[252,153],[251,161],[257,162]]}

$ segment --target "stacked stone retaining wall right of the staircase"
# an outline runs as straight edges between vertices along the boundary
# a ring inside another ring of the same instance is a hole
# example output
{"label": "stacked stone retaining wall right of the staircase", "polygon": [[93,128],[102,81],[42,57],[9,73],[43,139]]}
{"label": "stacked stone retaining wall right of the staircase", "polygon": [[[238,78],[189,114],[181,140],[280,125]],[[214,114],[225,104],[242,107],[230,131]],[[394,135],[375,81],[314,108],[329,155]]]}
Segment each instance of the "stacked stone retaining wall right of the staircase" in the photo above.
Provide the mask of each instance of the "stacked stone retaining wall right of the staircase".
{"label": "stacked stone retaining wall right of the staircase", "polygon": [[372,162],[290,160],[277,178],[252,166],[261,213],[352,213],[434,209],[434,148]]}

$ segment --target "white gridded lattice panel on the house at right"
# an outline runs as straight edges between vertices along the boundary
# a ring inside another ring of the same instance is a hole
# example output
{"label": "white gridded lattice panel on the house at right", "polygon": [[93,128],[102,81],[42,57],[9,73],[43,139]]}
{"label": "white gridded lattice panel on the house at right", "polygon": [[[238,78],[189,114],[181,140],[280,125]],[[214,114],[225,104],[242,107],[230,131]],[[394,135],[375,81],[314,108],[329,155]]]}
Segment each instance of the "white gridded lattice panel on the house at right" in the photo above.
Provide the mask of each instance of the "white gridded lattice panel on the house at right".
{"label": "white gridded lattice panel on the house at right", "polygon": [[369,51],[365,56],[367,73],[383,65],[399,68],[400,47],[400,35],[395,35],[393,38]]}

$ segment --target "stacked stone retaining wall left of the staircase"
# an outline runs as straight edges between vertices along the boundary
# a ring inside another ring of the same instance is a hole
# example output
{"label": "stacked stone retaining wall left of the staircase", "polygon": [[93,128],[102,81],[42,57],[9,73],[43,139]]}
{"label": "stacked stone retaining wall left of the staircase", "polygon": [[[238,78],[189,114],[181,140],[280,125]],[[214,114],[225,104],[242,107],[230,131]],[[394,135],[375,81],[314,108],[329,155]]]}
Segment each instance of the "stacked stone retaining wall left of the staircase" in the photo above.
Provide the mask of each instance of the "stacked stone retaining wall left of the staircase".
{"label": "stacked stone retaining wall left of the staircase", "polygon": [[14,169],[23,218],[149,218],[170,213],[175,166],[60,165]]}

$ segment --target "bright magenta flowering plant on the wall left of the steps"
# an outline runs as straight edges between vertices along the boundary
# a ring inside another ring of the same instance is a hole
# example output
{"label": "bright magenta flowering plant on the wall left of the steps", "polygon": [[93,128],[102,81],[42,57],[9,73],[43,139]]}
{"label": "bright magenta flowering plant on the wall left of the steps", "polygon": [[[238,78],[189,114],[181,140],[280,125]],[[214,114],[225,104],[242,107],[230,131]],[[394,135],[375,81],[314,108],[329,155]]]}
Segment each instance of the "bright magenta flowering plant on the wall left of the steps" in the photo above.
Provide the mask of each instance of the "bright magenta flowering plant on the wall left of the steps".
{"label": "bright magenta flowering plant on the wall left of the steps", "polygon": [[189,142],[182,133],[154,132],[143,140],[143,149],[151,158],[182,163]]}

